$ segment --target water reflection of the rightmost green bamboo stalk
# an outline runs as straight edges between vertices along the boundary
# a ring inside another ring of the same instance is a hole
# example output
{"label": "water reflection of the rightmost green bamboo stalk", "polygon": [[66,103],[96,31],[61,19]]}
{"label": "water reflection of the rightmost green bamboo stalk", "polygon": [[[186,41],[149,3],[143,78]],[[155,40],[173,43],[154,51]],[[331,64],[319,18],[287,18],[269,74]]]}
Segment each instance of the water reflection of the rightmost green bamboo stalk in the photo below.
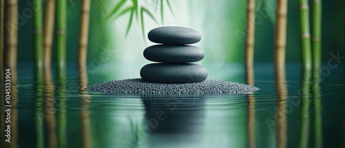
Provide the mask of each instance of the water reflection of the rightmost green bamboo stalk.
{"label": "water reflection of the rightmost green bamboo stalk", "polygon": [[315,73],[312,85],[313,105],[314,105],[314,147],[322,147],[322,94],[319,73]]}

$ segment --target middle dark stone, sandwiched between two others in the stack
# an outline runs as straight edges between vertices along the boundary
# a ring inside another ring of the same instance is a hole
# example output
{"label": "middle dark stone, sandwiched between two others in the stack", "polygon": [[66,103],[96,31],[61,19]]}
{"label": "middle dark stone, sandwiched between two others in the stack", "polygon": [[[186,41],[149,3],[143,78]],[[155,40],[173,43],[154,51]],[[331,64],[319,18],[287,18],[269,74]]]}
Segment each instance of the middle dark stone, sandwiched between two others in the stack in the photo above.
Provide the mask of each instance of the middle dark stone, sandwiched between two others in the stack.
{"label": "middle dark stone, sandwiched between two others in the stack", "polygon": [[144,50],[144,57],[154,62],[190,63],[204,56],[204,50],[193,45],[152,45]]}

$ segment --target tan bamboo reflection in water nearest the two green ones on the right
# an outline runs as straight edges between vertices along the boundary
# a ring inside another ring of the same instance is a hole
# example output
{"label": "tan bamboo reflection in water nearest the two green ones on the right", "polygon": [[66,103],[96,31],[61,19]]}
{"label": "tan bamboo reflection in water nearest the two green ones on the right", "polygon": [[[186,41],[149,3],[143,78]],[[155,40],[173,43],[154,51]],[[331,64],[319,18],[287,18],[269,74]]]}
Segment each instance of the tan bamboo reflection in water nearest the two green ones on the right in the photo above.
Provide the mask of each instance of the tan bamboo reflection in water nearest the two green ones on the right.
{"label": "tan bamboo reflection in water nearest the two green ones on the right", "polygon": [[[286,87],[285,65],[276,63],[275,69],[275,89],[277,89],[277,147],[286,147],[287,142],[287,116],[286,101],[288,98],[288,89]],[[282,66],[282,67],[280,67]]]}

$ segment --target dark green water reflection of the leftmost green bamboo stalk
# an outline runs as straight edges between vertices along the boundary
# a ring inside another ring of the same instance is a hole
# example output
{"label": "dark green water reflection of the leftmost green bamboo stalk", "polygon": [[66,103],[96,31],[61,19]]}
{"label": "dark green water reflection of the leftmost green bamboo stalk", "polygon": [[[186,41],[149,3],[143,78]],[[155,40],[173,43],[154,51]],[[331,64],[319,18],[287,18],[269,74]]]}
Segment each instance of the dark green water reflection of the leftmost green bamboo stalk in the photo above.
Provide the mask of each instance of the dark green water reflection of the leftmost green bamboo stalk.
{"label": "dark green water reflection of the leftmost green bamboo stalk", "polygon": [[36,132],[36,147],[44,147],[43,134],[43,77],[36,74],[36,97],[34,99],[34,129]]}

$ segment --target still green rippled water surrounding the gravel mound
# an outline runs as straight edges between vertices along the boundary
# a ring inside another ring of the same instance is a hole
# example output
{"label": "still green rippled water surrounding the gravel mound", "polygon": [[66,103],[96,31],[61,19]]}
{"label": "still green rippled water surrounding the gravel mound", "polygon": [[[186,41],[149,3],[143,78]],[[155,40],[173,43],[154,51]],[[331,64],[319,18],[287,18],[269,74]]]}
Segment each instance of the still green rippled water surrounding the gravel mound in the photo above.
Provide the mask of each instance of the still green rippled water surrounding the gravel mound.
{"label": "still green rippled water surrounding the gravel mound", "polygon": [[[11,134],[1,88],[1,147],[345,147],[344,67],[327,74],[273,64],[205,65],[208,78],[251,83],[250,94],[145,96],[81,88],[137,78],[144,64],[68,64],[66,77],[34,76],[19,63],[11,81]],[[204,65],[204,64],[203,64]],[[327,65],[325,65],[327,66]],[[17,77],[17,78],[16,78]],[[3,82],[1,83],[3,87]]]}

